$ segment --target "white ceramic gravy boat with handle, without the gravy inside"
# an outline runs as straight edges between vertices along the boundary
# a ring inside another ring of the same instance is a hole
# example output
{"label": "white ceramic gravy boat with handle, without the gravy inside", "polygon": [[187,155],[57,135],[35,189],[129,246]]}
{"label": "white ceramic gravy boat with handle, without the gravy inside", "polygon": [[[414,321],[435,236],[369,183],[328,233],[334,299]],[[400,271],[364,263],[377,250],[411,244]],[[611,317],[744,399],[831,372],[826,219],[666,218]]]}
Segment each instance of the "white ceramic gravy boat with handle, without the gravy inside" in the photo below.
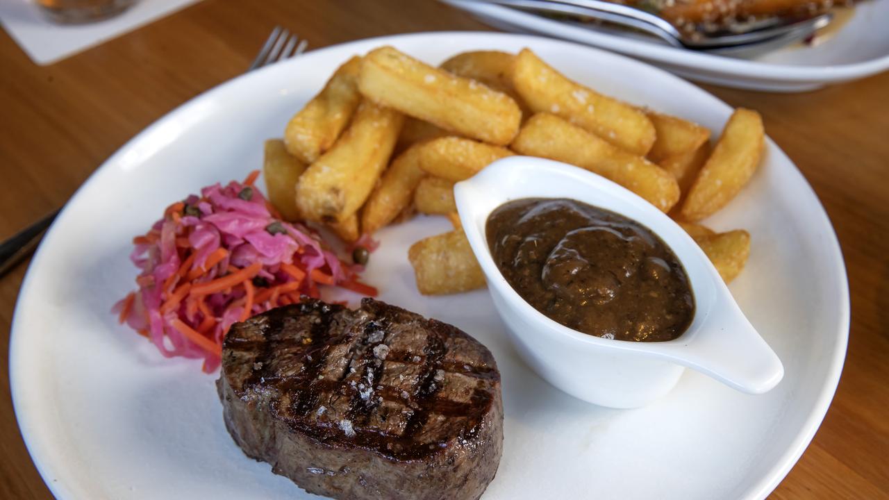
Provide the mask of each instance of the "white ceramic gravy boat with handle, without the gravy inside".
{"label": "white ceramic gravy boat with handle, without the gravy inside", "polygon": [[[509,157],[458,182],[454,197],[510,340],[525,362],[558,389],[597,405],[627,408],[669,392],[685,367],[751,394],[781,382],[781,360],[744,317],[701,248],[676,222],[629,190],[572,165]],[[667,342],[605,339],[565,327],[525,302],[503,278],[485,237],[493,210],[520,198],[572,198],[652,230],[677,255],[692,286],[695,311],[685,333]]]}

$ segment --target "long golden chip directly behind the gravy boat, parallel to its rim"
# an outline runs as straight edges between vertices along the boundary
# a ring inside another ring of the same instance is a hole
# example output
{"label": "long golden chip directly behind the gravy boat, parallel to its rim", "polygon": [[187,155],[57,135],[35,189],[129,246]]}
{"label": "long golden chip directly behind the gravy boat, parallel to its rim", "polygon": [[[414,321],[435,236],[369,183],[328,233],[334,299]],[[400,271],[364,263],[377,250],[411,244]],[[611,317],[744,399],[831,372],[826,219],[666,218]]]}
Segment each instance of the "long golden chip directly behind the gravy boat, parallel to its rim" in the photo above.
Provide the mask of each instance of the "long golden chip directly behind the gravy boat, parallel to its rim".
{"label": "long golden chip directly behind the gravy boat, parallel to its rim", "polygon": [[633,191],[664,212],[679,199],[673,176],[560,117],[538,113],[518,133],[511,148],[519,154],[580,166]]}

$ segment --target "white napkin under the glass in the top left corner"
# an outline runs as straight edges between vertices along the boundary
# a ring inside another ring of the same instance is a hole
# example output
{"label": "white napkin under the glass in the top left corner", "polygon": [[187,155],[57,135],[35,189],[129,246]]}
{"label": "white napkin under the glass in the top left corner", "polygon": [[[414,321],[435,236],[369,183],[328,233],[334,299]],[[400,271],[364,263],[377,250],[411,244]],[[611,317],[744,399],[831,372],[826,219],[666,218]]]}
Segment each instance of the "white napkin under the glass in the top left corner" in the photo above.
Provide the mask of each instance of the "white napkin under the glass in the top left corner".
{"label": "white napkin under the glass in the top left corner", "polygon": [[32,0],[0,0],[0,22],[37,64],[51,64],[139,28],[199,0],[136,0],[108,20],[65,26],[45,20]]}

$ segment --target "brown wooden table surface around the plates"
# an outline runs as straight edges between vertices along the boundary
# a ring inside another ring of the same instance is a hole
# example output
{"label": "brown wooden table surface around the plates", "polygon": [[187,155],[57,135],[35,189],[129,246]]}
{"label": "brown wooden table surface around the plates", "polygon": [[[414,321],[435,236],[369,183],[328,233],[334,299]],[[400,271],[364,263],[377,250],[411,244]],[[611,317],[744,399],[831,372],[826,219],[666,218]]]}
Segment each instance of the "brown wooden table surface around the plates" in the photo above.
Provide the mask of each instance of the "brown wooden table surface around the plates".
{"label": "brown wooden table surface around the plates", "polygon": [[[244,72],[276,24],[313,48],[413,31],[488,29],[431,1],[204,0],[48,67],[36,66],[0,33],[0,238],[65,203],[142,128]],[[852,290],[837,396],[773,498],[889,497],[889,73],[813,93],[705,88],[762,112],[767,132],[826,206]],[[51,498],[20,438],[9,392],[8,332],[25,269],[0,281],[0,497]]]}

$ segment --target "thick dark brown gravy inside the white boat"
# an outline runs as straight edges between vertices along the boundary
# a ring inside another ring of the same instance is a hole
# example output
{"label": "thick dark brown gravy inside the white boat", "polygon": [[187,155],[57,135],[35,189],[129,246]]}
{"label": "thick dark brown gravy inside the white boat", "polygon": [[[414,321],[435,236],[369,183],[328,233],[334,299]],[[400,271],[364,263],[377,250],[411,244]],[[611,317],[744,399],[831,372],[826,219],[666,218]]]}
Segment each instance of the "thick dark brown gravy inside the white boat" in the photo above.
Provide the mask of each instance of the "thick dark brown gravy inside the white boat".
{"label": "thick dark brown gravy inside the white boat", "polygon": [[565,327],[661,342],[692,322],[685,269],[639,222],[573,199],[525,198],[497,207],[485,232],[509,285]]}

